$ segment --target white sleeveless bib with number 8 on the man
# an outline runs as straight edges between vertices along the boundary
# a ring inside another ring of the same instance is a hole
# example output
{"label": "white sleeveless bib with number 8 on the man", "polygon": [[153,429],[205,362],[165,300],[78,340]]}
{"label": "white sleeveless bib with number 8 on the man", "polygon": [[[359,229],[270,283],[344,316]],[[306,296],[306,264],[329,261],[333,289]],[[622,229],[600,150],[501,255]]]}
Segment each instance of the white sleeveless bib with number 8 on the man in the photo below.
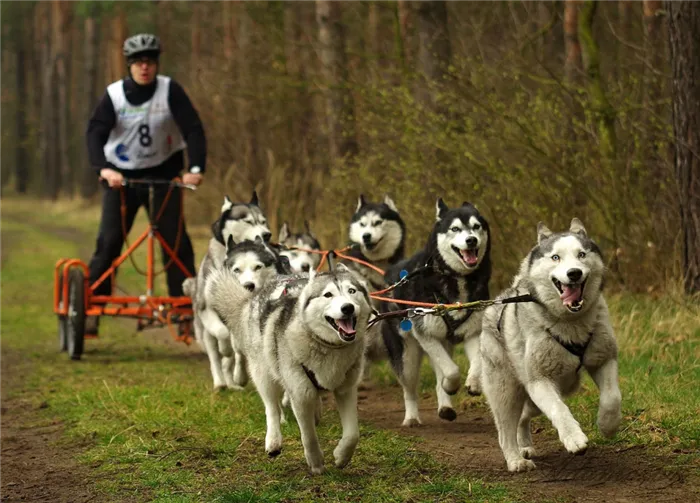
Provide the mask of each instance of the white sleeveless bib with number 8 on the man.
{"label": "white sleeveless bib with number 8 on the man", "polygon": [[120,169],[152,168],[186,147],[168,105],[170,77],[156,78],[153,97],[138,106],[126,99],[123,80],[107,87],[117,123],[109,133],[104,153],[107,161]]}

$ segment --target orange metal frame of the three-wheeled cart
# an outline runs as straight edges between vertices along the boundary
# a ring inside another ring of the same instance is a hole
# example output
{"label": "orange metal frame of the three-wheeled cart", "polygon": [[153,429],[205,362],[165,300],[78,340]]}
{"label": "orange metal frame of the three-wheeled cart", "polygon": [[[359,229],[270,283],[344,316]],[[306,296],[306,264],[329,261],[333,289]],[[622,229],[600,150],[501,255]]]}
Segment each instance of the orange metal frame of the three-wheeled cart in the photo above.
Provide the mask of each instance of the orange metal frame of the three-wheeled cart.
{"label": "orange metal frame of the three-wheeled cart", "polygon": [[[101,285],[108,277],[112,278],[112,288],[115,284],[115,274],[119,267],[134,250],[136,250],[143,242],[147,244],[147,270],[146,270],[146,294],[139,296],[119,296],[119,295],[95,295],[95,289]],[[167,325],[173,337],[178,340],[190,344],[192,337],[186,334],[182,337],[177,335],[173,330],[173,317],[178,318],[189,317],[192,319],[193,312],[191,307],[192,299],[187,296],[182,297],[167,297],[153,295],[153,280],[154,274],[154,253],[153,248],[155,241],[158,241],[166,254],[172,259],[172,265],[179,267],[188,278],[192,277],[192,273],[187,270],[187,267],[175,256],[175,252],[165,242],[163,237],[158,233],[158,230],[149,222],[145,231],[134,241],[131,246],[120,255],[105,273],[100,276],[92,285],[89,281],[89,269],[87,264],[80,259],[60,259],[54,267],[54,289],[53,289],[53,311],[57,315],[68,315],[68,302],[64,302],[61,306],[61,299],[68,299],[68,273],[73,267],[79,267],[83,270],[85,276],[85,315],[86,316],[123,316],[136,318],[139,320],[139,328],[145,328],[153,323],[159,325]],[[62,279],[62,283],[60,282]],[[59,288],[61,284],[61,288]],[[169,305],[169,307],[165,307]],[[145,323],[144,323],[145,322]]]}

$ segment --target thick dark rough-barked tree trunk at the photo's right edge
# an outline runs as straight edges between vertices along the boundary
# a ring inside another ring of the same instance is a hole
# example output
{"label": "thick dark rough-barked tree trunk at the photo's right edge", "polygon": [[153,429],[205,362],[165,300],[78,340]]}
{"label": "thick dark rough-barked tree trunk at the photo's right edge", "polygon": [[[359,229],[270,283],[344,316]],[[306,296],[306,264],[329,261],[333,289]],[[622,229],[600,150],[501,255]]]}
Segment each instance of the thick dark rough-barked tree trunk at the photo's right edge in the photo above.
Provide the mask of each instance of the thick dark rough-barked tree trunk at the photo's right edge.
{"label": "thick dark rough-barked tree trunk at the photo's right edge", "polygon": [[664,0],[673,75],[675,174],[686,293],[700,292],[700,9],[696,0]]}

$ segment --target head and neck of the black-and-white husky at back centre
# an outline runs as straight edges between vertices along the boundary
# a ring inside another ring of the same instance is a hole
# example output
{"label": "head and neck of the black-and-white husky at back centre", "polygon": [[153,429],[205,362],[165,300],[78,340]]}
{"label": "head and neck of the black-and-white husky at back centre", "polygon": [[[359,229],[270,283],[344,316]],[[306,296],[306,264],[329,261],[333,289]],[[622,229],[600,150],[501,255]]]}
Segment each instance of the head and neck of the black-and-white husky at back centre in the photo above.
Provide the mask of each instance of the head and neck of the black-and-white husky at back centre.
{"label": "head and neck of the black-and-white husky at back centre", "polygon": [[[381,203],[370,203],[360,195],[350,220],[349,238],[353,248],[347,255],[369,262],[386,271],[404,256],[406,225],[388,195]],[[351,270],[366,278],[374,290],[386,285],[381,274],[363,265],[345,261]]]}

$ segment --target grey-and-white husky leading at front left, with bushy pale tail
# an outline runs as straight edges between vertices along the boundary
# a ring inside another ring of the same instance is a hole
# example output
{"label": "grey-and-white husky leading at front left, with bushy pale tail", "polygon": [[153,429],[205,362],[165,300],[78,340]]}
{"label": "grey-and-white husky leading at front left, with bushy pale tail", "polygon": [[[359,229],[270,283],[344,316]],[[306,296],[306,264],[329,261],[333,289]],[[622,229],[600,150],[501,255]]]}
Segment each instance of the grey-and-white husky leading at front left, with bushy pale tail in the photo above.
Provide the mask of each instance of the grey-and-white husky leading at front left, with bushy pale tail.
{"label": "grey-and-white husky leading at front left, with bushy pale tail", "polygon": [[212,275],[212,307],[242,348],[265,404],[265,451],[282,449],[280,399],[286,390],[312,473],[324,471],[314,423],[319,393],[332,391],[343,436],[335,464],[350,462],[359,439],[357,384],[370,316],[366,284],[342,264],[334,273],[278,277],[252,296],[227,269]]}

